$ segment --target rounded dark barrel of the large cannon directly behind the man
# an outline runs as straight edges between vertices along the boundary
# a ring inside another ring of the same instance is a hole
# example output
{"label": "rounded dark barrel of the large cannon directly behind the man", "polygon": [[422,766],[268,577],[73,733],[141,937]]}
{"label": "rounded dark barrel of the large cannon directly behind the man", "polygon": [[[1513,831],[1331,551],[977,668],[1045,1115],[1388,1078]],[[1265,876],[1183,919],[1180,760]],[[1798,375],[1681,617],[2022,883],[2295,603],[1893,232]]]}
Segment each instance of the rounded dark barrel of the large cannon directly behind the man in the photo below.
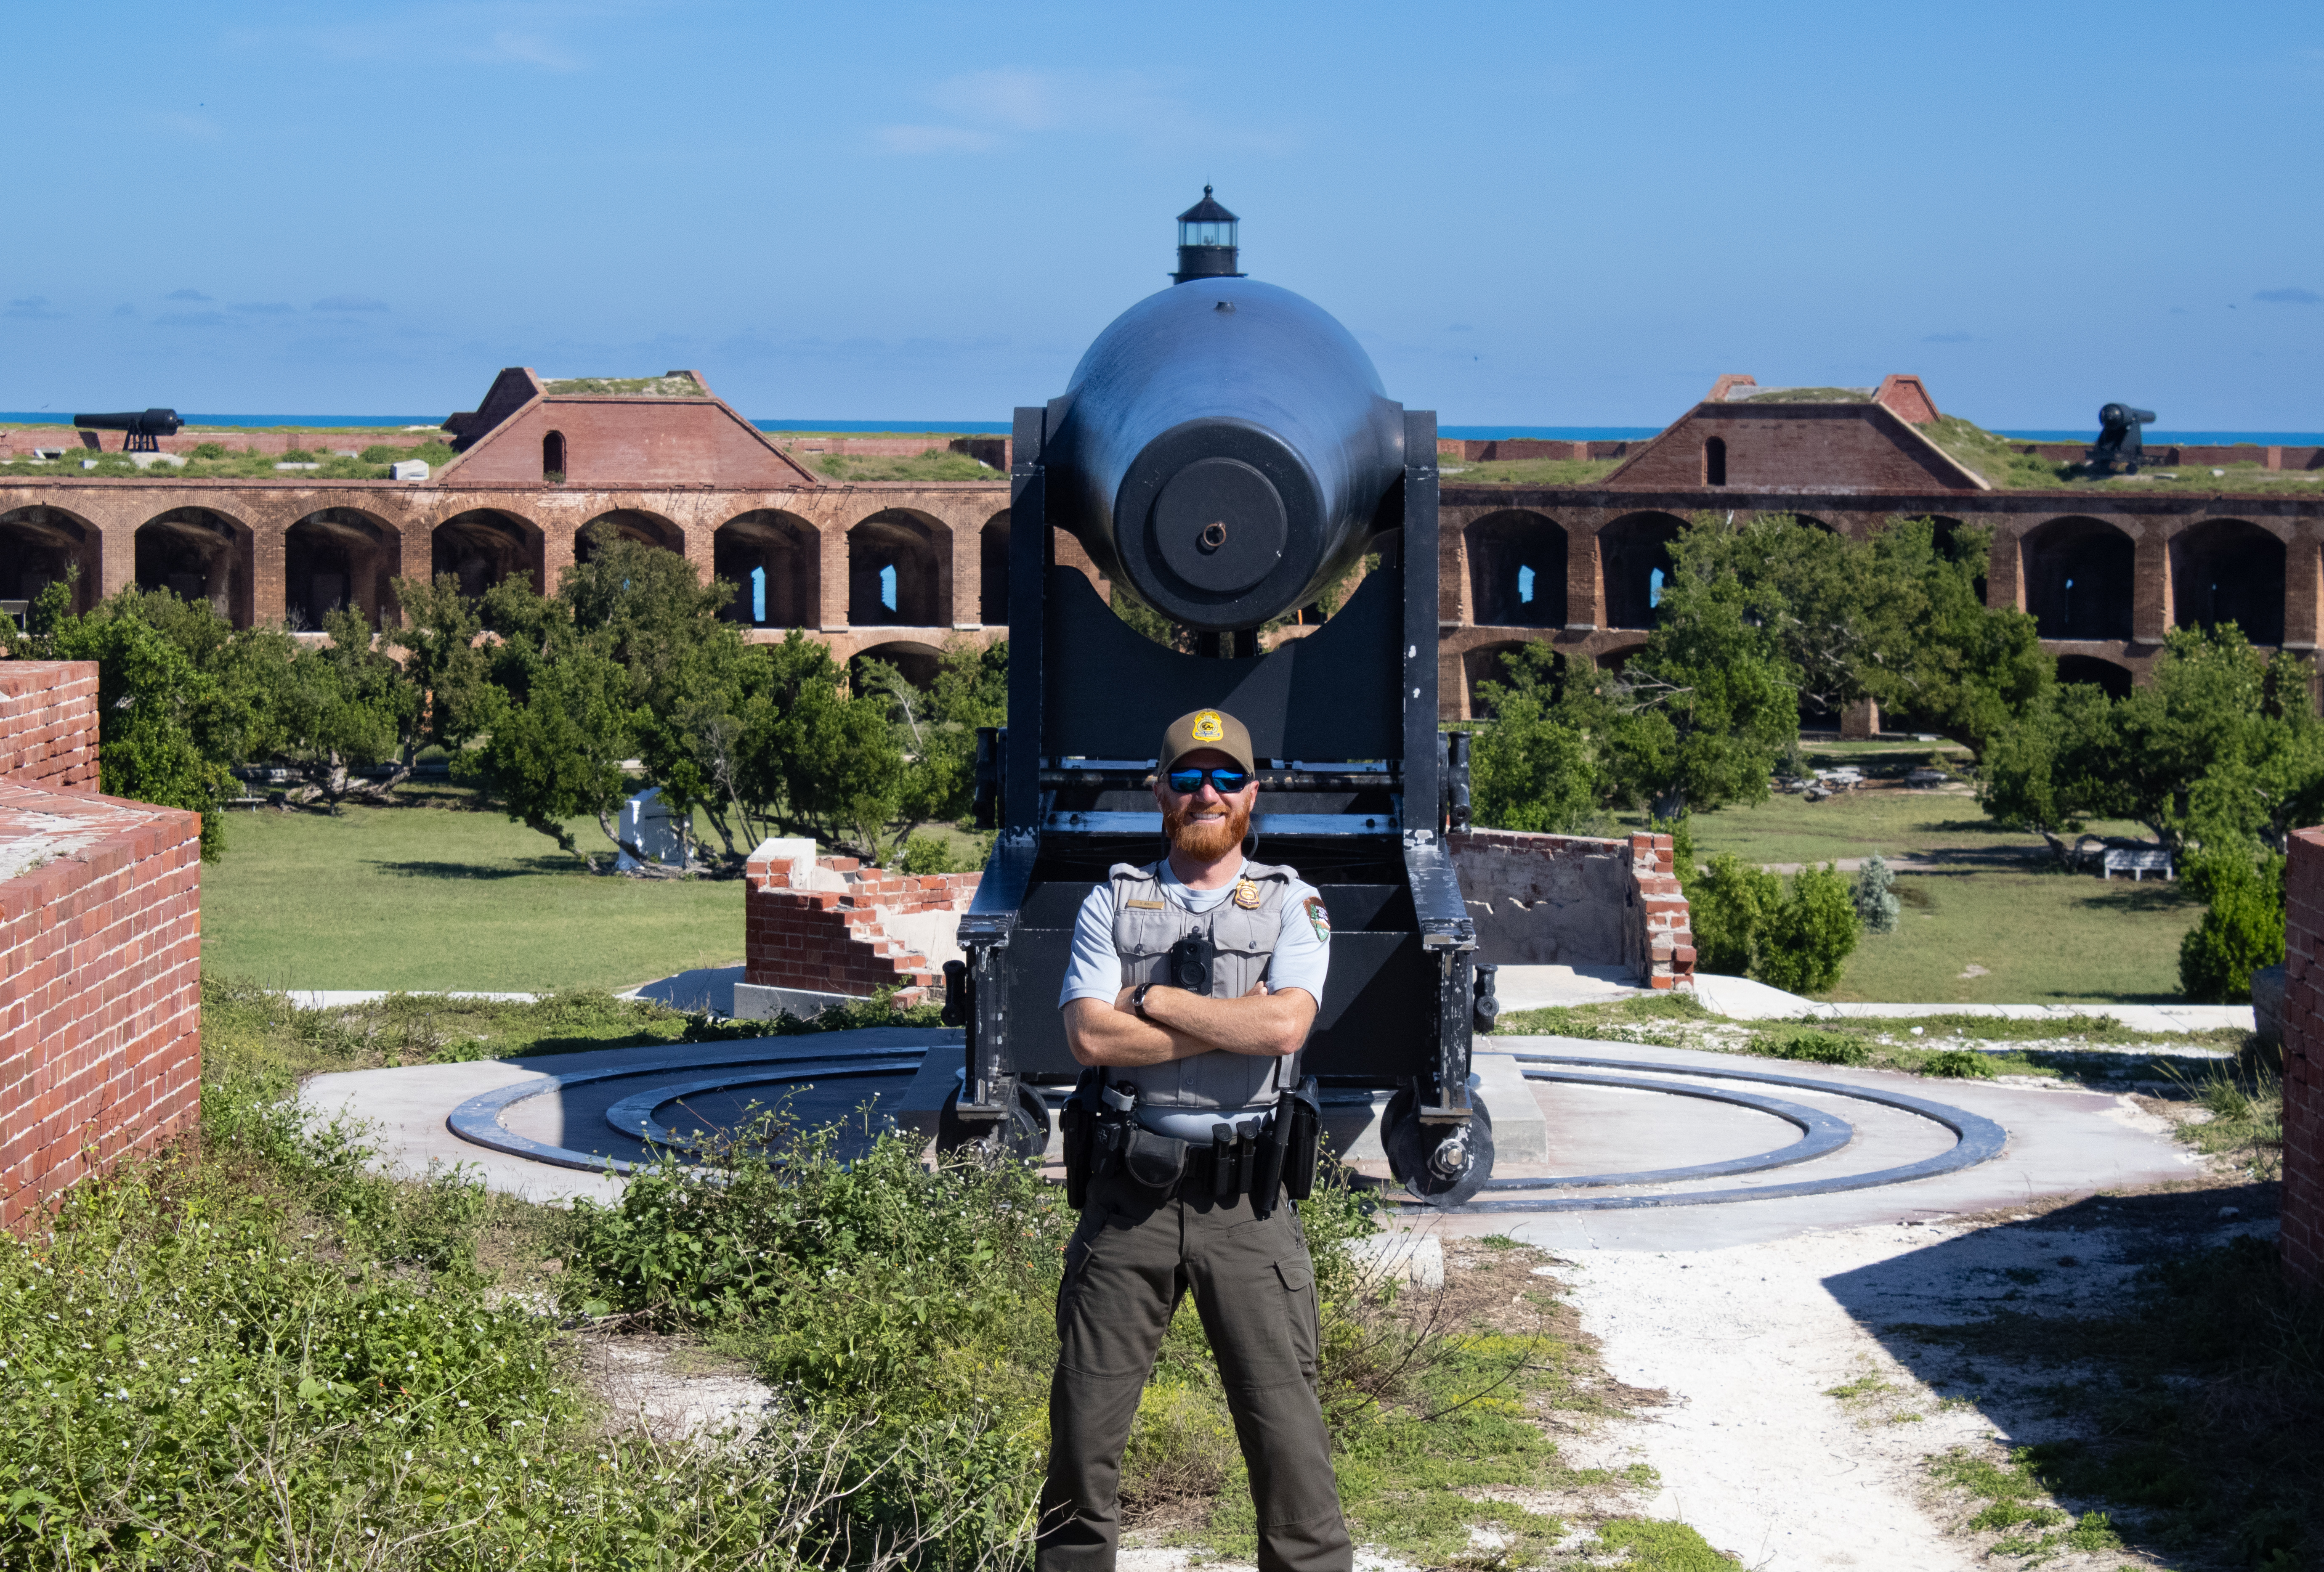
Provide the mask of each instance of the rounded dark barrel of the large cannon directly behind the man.
{"label": "rounded dark barrel of the large cannon directly behind the man", "polygon": [[1404,413],[1313,302],[1190,279],[1097,334],[1043,464],[1050,522],[1113,583],[1188,627],[1246,629],[1394,527]]}

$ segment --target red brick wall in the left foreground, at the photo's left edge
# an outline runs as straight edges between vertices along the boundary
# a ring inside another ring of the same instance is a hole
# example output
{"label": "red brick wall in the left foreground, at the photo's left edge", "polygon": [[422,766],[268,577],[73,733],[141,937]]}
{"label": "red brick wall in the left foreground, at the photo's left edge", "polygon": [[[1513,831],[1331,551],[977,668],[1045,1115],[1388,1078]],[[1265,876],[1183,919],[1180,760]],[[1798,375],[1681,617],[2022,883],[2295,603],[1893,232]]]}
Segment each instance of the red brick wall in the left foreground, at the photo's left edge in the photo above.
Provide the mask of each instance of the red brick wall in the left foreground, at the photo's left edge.
{"label": "red brick wall in the left foreground, at the photo's left edge", "polygon": [[202,820],[88,789],[98,669],[0,664],[0,1226],[193,1126]]}

